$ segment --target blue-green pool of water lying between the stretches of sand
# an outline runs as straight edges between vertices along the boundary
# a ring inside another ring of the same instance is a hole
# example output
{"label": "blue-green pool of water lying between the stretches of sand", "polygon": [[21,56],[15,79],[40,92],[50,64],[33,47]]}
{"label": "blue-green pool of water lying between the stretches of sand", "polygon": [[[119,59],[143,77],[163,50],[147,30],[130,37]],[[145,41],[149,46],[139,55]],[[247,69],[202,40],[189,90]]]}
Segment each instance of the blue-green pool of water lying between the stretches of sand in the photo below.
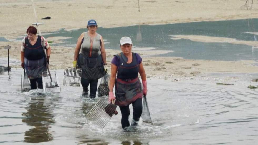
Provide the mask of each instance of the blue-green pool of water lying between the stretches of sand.
{"label": "blue-green pool of water lying between the stretches of sand", "polygon": [[[154,47],[156,50],[173,50],[167,54],[156,56],[174,56],[185,59],[206,60],[257,60],[258,49],[248,45],[231,43],[204,43],[186,39],[173,40],[171,35],[200,35],[212,37],[226,37],[237,40],[257,41],[258,19],[241,19],[230,21],[191,22],[166,25],[141,25],[117,28],[99,27],[97,32],[105,39],[105,48],[119,49],[119,40],[123,36],[132,38],[135,47]],[[42,31],[44,28],[41,28]],[[77,39],[86,28],[66,31],[60,29],[44,37],[72,37],[63,39],[52,46],[75,47]],[[141,34],[141,41],[137,42],[137,34]],[[22,38],[18,38],[21,40]]]}

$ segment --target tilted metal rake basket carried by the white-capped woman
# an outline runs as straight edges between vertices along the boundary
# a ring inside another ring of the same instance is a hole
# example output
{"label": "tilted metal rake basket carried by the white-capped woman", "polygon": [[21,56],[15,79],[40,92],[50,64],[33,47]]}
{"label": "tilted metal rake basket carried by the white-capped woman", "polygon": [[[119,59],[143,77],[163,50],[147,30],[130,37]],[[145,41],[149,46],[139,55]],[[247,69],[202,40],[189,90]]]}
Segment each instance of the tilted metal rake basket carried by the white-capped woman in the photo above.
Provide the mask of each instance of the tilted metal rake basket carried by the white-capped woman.
{"label": "tilted metal rake basket carried by the white-capped woman", "polygon": [[108,104],[103,99],[99,99],[98,102],[91,108],[91,110],[87,114],[87,116],[101,128],[104,128],[113,116],[109,116],[105,112],[105,107],[107,105]]}

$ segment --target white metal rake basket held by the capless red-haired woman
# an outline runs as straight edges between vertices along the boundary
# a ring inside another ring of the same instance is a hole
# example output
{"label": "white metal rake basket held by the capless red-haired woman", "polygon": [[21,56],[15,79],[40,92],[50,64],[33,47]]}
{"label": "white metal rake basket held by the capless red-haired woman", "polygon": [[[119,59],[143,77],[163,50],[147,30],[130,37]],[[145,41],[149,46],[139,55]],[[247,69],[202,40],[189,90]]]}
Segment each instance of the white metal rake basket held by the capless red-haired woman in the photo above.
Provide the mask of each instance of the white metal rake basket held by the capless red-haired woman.
{"label": "white metal rake basket held by the capless red-haired woman", "polygon": [[60,93],[61,87],[56,72],[42,72],[43,93]]}

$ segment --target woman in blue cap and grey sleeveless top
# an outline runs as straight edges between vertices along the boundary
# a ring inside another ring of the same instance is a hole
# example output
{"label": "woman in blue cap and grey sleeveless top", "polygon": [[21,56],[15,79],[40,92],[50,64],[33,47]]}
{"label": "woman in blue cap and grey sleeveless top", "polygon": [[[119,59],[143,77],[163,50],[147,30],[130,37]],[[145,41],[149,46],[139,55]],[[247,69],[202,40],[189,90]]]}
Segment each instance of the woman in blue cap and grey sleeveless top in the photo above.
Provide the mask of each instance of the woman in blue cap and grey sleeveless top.
{"label": "woman in blue cap and grey sleeveless top", "polygon": [[76,67],[78,60],[78,67],[82,68],[81,84],[84,95],[88,94],[90,84],[90,98],[95,98],[98,79],[106,73],[104,65],[107,64],[104,41],[102,36],[96,32],[97,28],[95,20],[88,21],[88,31],[83,32],[78,38],[73,59],[73,67]]}

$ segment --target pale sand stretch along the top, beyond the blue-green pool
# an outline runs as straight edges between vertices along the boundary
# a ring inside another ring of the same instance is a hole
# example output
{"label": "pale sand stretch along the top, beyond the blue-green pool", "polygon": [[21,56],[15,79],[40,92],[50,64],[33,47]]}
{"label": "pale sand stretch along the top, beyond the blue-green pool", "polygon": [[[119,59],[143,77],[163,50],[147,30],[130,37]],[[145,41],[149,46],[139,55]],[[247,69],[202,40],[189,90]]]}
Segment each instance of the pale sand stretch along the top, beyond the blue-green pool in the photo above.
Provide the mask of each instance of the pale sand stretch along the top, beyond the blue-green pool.
{"label": "pale sand stretch along the top, beyond the blue-green pool", "polygon": [[[251,10],[241,7],[244,4],[244,0],[152,0],[140,1],[139,12],[138,1],[34,0],[39,22],[44,22],[42,32],[85,28],[89,19],[107,28],[257,18],[258,2],[254,1]],[[0,16],[0,37],[9,39],[26,34],[27,27],[36,22],[28,0],[2,0]],[[51,19],[41,20],[47,16]]]}

